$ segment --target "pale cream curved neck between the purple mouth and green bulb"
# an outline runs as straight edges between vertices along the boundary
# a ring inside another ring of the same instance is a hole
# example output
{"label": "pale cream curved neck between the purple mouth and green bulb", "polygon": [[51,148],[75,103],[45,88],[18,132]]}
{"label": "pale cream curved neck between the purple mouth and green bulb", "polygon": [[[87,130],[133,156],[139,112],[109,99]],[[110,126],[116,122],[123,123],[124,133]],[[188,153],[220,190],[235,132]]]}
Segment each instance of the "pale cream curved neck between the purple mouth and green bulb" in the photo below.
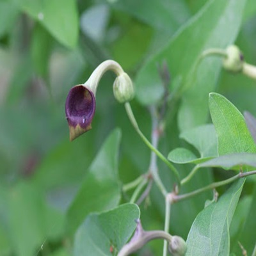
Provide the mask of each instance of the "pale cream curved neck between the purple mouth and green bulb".
{"label": "pale cream curved neck between the purple mouth and green bulb", "polygon": [[124,73],[123,68],[116,61],[106,60],[100,63],[100,65],[92,72],[92,75],[89,77],[89,79],[84,83],[84,85],[90,87],[94,95],[96,95],[101,77],[108,70],[115,72],[116,76],[120,76],[120,74]]}

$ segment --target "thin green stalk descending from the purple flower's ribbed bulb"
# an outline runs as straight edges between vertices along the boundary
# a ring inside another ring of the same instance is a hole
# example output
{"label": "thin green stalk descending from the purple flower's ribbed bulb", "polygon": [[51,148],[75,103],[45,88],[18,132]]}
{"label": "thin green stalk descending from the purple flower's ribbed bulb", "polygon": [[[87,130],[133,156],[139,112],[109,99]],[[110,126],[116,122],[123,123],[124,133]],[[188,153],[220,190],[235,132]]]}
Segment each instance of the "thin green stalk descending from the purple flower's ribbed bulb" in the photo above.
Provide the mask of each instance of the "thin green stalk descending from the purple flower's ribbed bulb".
{"label": "thin green stalk descending from the purple flower's ribbed bulb", "polygon": [[150,150],[152,150],[153,152],[156,153],[156,155],[164,162],[166,163],[166,165],[170,168],[170,170],[172,170],[172,172],[175,174],[177,181],[179,181],[179,172],[177,171],[177,169],[173,166],[172,163],[170,163],[168,161],[168,159],[166,159],[166,157],[163,156],[163,154],[161,152],[159,152],[159,150],[157,150],[157,148],[153,147],[153,145],[150,143],[150,141],[148,141],[148,139],[145,137],[145,135],[140,131],[140,128],[138,126],[138,123],[133,115],[132,112],[132,108],[131,105],[129,104],[129,102],[125,102],[125,110],[127,112],[127,115],[129,116],[129,119],[132,123],[132,126],[134,127],[134,129],[136,130],[136,132],[140,135],[141,139],[144,141],[144,143],[148,146],[148,148],[150,148]]}

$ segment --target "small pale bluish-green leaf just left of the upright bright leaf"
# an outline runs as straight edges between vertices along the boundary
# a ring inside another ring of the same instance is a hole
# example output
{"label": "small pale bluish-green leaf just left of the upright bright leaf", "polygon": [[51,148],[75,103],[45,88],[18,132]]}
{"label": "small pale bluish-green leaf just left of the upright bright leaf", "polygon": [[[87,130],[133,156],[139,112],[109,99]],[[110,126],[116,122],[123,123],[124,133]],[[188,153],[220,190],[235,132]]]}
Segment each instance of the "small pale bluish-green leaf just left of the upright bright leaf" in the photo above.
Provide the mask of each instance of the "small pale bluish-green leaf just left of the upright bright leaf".
{"label": "small pale bluish-green leaf just left of the upright bright leaf", "polygon": [[193,145],[202,158],[218,156],[217,136],[212,124],[205,124],[180,134],[180,138]]}

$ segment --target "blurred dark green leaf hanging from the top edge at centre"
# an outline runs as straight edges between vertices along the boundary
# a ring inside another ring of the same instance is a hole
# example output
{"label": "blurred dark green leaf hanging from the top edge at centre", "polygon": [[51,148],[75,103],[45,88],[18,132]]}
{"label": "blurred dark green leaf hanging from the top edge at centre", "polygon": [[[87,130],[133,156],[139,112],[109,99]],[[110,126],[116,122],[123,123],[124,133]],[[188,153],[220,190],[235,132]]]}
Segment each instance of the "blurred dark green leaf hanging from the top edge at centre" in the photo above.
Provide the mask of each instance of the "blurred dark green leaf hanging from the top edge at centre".
{"label": "blurred dark green leaf hanging from the top edge at centre", "polygon": [[[109,1],[110,2],[110,1]],[[115,9],[131,13],[134,17],[161,31],[175,31],[190,16],[184,0],[123,0],[111,1]]]}

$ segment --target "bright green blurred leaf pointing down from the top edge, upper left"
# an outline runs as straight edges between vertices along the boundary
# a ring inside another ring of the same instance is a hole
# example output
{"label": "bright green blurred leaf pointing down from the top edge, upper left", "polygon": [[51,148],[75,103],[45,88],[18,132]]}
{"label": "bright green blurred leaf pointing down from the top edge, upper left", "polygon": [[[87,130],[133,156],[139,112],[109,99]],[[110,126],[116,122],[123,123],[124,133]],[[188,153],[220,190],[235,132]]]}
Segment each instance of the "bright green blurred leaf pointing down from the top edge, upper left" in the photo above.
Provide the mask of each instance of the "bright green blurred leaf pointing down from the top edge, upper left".
{"label": "bright green blurred leaf pointing down from the top edge, upper left", "polygon": [[15,0],[20,9],[38,20],[61,44],[76,47],[79,19],[75,0]]}

